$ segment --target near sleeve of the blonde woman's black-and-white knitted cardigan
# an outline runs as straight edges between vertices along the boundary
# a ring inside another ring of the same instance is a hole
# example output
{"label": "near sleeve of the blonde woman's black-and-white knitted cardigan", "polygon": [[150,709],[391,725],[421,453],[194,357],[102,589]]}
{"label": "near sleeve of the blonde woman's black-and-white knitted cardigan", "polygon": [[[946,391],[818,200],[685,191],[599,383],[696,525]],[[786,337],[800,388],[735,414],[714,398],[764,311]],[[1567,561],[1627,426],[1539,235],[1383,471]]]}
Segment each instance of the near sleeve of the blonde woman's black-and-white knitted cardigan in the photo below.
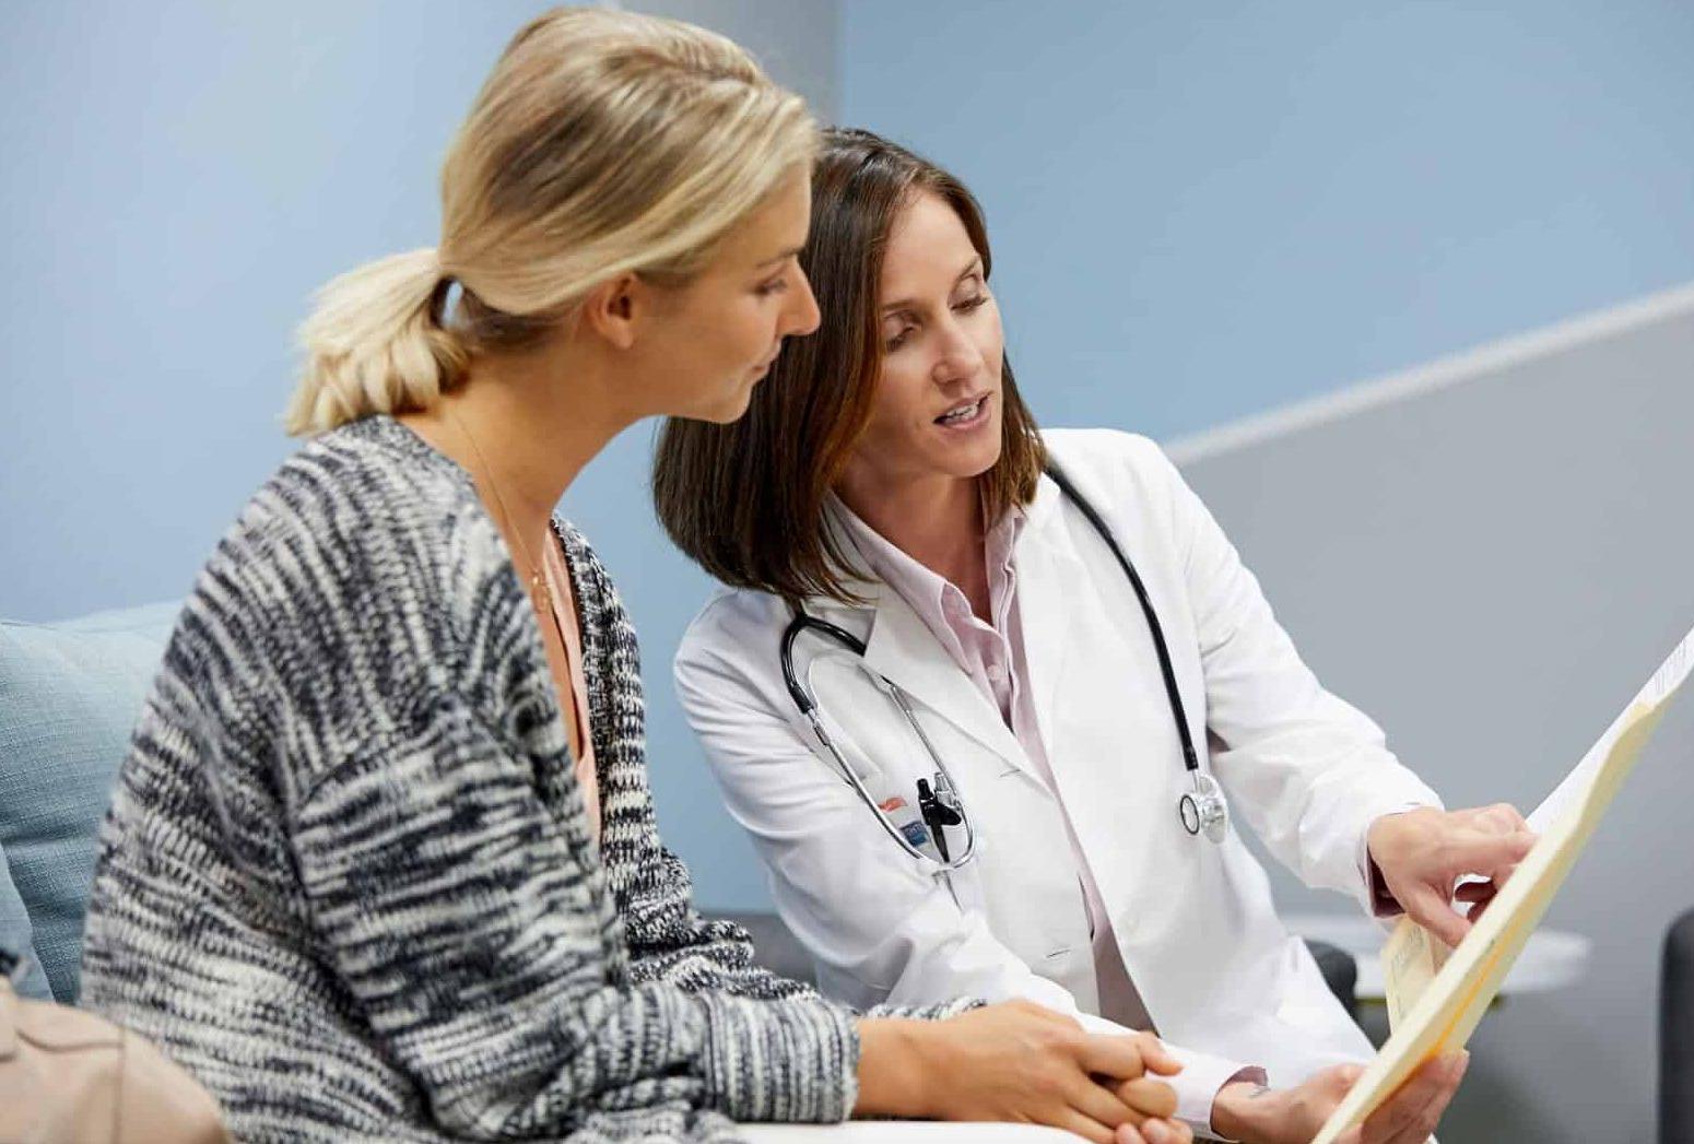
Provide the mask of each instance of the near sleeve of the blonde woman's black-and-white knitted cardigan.
{"label": "near sleeve of the blonde woman's black-and-white knitted cardigan", "polygon": [[449,690],[385,722],[302,800],[296,861],[325,954],[444,1127],[557,1134],[684,1093],[744,1120],[850,1112],[845,1010],[620,980],[596,871],[500,736]]}

